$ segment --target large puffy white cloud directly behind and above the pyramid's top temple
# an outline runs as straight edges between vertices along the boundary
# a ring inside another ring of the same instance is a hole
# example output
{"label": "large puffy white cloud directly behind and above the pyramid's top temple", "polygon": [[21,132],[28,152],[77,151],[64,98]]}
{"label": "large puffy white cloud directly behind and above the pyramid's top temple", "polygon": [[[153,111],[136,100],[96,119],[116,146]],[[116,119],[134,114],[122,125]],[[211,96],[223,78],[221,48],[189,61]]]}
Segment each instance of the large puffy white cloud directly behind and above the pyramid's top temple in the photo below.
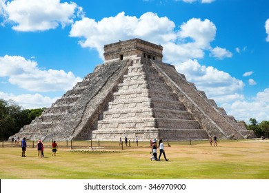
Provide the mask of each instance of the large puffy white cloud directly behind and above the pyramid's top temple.
{"label": "large puffy white cloud directly behind and above the pyramid's top temple", "polygon": [[167,17],[146,12],[141,17],[126,16],[120,12],[115,17],[101,21],[83,18],[72,25],[70,37],[81,37],[79,44],[83,48],[94,48],[103,58],[103,45],[125,39],[143,38],[155,43],[163,43],[176,38],[175,23]]}

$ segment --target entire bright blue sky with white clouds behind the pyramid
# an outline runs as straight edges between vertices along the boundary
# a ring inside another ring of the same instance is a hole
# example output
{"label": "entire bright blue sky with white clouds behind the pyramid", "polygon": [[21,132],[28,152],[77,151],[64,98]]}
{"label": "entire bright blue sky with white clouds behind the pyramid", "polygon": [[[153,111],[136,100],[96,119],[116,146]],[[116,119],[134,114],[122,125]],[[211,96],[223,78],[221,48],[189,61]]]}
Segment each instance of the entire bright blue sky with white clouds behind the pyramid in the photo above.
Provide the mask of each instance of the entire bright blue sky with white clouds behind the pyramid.
{"label": "entire bright blue sky with white clouds behind the pyramid", "polygon": [[139,38],[237,120],[269,120],[269,1],[0,0],[0,98],[42,108]]}

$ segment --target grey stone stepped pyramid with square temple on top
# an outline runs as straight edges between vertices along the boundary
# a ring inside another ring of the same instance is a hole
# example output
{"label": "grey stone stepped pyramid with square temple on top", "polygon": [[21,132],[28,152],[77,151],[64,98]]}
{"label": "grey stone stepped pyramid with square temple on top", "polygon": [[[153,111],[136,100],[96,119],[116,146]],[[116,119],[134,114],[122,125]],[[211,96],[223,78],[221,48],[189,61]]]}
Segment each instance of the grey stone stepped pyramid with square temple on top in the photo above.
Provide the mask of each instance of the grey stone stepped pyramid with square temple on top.
{"label": "grey stone stepped pyramid with square temple on top", "polygon": [[16,136],[43,141],[169,141],[254,136],[205,92],[163,63],[163,47],[141,39],[104,45],[105,61]]}

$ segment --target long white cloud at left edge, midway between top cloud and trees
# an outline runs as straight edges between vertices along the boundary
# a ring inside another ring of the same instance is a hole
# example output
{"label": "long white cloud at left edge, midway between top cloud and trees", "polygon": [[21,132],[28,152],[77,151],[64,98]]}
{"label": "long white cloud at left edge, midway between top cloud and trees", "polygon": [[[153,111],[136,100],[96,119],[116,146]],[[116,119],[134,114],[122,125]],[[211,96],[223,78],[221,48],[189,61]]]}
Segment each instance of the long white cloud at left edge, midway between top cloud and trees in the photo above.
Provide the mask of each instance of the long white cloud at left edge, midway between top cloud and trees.
{"label": "long white cloud at left edge, midway between top cloud and trees", "polygon": [[37,62],[19,56],[0,57],[0,77],[9,83],[33,92],[69,90],[81,78],[63,70],[40,70]]}

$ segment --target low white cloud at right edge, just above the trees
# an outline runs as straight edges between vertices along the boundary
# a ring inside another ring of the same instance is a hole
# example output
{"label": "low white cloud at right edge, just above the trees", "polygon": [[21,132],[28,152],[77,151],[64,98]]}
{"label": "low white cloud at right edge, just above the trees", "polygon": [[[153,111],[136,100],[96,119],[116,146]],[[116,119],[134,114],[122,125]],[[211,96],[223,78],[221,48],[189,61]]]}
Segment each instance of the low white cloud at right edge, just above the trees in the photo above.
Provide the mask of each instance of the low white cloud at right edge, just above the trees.
{"label": "low white cloud at right edge, just above the trees", "polygon": [[226,112],[236,115],[237,120],[248,122],[248,119],[255,118],[258,122],[269,120],[269,88],[258,92],[250,101],[235,101],[221,105]]}

